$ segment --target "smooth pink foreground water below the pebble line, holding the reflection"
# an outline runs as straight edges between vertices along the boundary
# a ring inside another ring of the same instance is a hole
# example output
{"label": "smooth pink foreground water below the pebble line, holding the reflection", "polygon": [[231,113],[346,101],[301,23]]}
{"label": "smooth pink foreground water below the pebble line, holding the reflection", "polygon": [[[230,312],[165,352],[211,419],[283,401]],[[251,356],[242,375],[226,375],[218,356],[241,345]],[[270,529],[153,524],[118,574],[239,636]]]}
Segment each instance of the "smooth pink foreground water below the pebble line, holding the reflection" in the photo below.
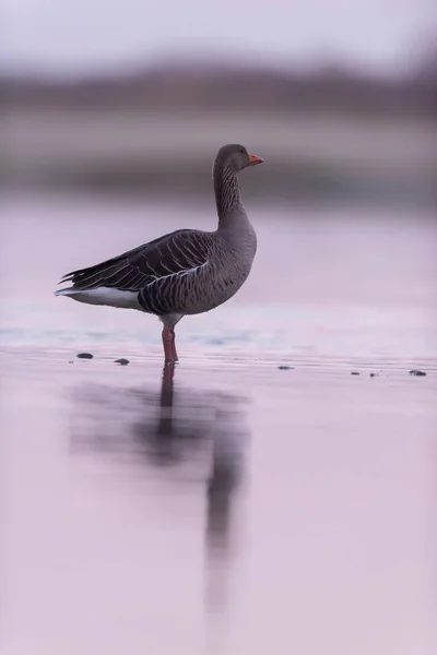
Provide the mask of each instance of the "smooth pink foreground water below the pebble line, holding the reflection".
{"label": "smooth pink foreground water below the pebble line, holding the reflection", "polygon": [[2,652],[434,652],[435,376],[12,355]]}

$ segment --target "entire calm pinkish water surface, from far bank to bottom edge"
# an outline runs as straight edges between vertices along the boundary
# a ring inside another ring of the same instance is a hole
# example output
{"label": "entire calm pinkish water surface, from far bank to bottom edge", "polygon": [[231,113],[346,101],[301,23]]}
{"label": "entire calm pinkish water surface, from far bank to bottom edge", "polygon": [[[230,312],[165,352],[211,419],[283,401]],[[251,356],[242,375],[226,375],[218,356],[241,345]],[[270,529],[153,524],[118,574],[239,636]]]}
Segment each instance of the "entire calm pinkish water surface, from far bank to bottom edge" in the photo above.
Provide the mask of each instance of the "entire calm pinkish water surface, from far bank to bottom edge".
{"label": "entire calm pinkish water surface, from far bank to bottom edge", "polygon": [[3,203],[5,655],[434,652],[436,226],[287,212],[173,377],[156,320],[50,291],[180,210]]}

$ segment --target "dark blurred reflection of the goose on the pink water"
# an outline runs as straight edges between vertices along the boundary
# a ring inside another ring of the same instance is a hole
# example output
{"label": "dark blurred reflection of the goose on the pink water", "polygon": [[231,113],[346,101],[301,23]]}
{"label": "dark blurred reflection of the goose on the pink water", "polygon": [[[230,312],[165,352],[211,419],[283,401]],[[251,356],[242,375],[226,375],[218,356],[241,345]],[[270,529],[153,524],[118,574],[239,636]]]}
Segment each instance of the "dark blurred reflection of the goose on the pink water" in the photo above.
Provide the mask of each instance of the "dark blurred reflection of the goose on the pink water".
{"label": "dark blurred reflection of the goose on the pink water", "polygon": [[178,484],[200,484],[206,500],[206,599],[214,609],[226,595],[223,564],[245,468],[248,400],[214,389],[175,388],[174,376],[175,368],[165,367],[156,391],[105,384],[75,389],[71,449],[105,453]]}

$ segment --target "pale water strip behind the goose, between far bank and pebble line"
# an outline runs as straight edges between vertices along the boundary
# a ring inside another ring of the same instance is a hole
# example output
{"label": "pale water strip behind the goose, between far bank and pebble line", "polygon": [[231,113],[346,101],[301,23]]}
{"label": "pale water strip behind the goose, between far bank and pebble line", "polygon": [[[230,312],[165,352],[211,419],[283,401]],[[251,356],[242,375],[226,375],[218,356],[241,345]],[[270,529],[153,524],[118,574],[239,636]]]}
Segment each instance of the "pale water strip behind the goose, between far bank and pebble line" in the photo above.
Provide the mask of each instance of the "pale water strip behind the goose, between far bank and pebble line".
{"label": "pale water strip behind the goose, between far bank and pebble line", "polygon": [[[436,361],[432,213],[261,207],[251,216],[259,250],[249,281],[220,309],[184,319],[182,352]],[[181,225],[214,225],[211,207],[105,205],[86,196],[10,199],[2,217],[0,346],[72,352],[115,345],[145,354],[161,329],[140,312],[55,298],[63,273]]]}

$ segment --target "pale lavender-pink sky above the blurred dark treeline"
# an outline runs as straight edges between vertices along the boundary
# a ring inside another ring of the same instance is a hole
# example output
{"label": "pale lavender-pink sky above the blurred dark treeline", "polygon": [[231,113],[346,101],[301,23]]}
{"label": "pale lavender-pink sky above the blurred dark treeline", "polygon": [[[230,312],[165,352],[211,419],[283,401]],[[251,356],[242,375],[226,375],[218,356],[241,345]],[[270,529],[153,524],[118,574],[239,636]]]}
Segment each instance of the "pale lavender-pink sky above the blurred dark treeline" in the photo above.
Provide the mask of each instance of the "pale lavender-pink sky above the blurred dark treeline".
{"label": "pale lavender-pink sky above the blurred dark treeline", "polygon": [[0,67],[86,71],[180,53],[288,66],[409,66],[433,0],[2,0]]}

